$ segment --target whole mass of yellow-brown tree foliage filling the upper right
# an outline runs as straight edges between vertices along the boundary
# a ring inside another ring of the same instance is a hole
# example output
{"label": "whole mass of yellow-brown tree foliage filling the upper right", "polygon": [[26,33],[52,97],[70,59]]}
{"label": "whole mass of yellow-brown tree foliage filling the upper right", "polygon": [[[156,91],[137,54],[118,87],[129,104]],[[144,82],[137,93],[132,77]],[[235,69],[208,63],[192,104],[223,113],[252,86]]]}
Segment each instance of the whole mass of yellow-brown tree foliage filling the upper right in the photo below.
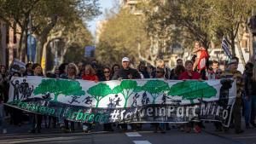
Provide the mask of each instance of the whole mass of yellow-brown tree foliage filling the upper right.
{"label": "whole mass of yellow-brown tree foliage filling the upper right", "polygon": [[209,48],[211,42],[219,45],[226,37],[232,55],[236,55],[235,42],[240,42],[237,32],[240,27],[246,29],[247,19],[252,9],[256,8],[255,3],[255,0],[181,0],[165,3],[152,0],[145,9],[148,32],[160,35],[167,32],[167,36],[172,37],[177,33],[183,37],[183,45],[199,40],[205,48]]}

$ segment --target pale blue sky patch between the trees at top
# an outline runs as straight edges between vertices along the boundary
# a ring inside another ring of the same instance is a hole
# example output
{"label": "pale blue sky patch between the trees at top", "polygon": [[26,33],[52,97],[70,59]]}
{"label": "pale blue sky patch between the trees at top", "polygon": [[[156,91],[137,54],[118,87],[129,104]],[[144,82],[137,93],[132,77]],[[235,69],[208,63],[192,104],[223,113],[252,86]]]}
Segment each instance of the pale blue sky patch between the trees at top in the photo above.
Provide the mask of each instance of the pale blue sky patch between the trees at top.
{"label": "pale blue sky patch between the trees at top", "polygon": [[88,22],[88,28],[92,35],[95,36],[96,33],[96,23],[97,21],[104,20],[104,11],[105,9],[111,9],[113,7],[114,0],[99,0],[99,3],[101,4],[101,11],[102,14],[97,16],[94,20],[91,20]]}

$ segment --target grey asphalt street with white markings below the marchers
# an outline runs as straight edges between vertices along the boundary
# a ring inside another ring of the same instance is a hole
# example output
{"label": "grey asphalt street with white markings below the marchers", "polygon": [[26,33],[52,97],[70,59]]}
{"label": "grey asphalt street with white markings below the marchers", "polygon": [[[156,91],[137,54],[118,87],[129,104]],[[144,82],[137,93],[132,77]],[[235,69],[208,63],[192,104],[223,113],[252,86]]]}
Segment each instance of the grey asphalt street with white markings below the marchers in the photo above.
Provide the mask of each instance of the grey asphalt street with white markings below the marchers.
{"label": "grey asphalt street with white markings below the marchers", "polygon": [[201,134],[177,129],[168,130],[166,134],[154,133],[149,124],[143,125],[143,131],[126,133],[102,131],[102,126],[98,125],[90,134],[78,128],[75,133],[67,134],[59,129],[43,129],[41,134],[28,134],[28,124],[21,127],[11,125],[8,134],[0,135],[0,144],[256,144],[256,129],[236,135],[234,130],[215,132],[213,124],[205,125],[206,129]]}

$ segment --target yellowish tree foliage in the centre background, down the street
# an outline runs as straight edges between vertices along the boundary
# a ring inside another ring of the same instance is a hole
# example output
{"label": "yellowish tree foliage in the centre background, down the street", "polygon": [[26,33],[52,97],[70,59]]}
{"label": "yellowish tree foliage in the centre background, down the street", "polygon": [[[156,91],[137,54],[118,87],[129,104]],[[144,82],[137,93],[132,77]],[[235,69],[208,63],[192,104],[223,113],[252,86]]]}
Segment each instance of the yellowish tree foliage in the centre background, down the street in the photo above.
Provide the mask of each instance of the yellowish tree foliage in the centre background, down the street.
{"label": "yellowish tree foliage in the centre background, down the street", "polygon": [[143,16],[121,9],[118,14],[108,14],[108,17],[96,44],[97,59],[107,64],[119,63],[124,56],[138,60],[138,44],[144,49],[149,45]]}

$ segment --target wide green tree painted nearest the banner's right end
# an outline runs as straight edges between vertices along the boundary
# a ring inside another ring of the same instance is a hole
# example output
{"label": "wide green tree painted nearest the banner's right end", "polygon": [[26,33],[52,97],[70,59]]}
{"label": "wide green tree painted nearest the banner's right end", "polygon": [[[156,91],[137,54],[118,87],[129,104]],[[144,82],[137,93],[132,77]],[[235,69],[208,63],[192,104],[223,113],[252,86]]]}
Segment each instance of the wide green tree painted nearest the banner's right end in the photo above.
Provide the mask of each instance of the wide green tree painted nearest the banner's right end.
{"label": "wide green tree painted nearest the banner's right end", "polygon": [[189,100],[192,104],[197,98],[210,98],[217,94],[217,90],[205,82],[200,81],[183,81],[174,84],[168,95],[182,96],[183,100]]}

